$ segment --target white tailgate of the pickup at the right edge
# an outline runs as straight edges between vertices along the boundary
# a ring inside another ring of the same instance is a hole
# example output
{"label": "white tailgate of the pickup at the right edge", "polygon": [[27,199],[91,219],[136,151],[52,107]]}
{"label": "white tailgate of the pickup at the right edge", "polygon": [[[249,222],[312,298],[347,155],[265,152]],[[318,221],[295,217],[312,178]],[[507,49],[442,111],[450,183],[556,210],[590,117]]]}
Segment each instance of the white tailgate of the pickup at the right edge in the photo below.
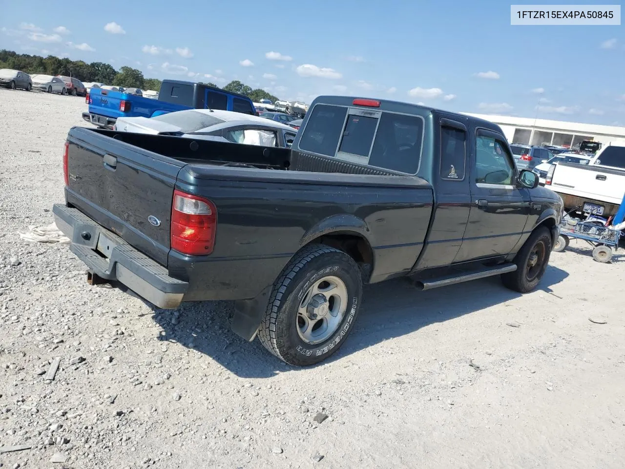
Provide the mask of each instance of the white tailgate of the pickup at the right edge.
{"label": "white tailgate of the pickup at the right edge", "polygon": [[625,171],[594,164],[558,163],[553,173],[551,189],[619,205],[625,191]]}

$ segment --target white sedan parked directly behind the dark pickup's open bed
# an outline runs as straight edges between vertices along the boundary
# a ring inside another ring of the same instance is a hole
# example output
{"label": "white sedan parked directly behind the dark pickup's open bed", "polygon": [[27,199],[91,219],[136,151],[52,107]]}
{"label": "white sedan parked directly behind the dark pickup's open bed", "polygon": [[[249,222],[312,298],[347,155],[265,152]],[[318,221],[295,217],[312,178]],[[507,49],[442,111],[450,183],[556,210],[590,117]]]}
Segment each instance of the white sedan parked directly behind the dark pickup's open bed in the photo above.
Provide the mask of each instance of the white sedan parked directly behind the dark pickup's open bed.
{"label": "white sedan parked directly behind the dark pickup's open bed", "polygon": [[297,133],[276,121],[220,109],[185,109],[153,118],[118,118],[113,130],[284,148],[291,146]]}

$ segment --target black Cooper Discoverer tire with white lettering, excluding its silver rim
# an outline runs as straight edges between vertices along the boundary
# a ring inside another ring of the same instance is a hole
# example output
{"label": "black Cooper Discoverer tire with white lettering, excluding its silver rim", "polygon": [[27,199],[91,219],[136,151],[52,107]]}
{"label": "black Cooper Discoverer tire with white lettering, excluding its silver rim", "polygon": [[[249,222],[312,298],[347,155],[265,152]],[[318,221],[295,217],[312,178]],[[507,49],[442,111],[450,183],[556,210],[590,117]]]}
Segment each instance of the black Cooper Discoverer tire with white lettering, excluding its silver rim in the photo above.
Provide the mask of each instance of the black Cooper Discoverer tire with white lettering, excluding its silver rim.
{"label": "black Cooper Discoverer tire with white lettering, excluding its silver rim", "polygon": [[[314,282],[330,276],[341,280],[346,287],[346,309],[334,332],[329,332],[331,335],[325,340],[312,344],[302,340],[298,310]],[[274,283],[258,338],[267,350],[289,365],[314,365],[328,358],[344,343],[356,321],[361,299],[361,273],[350,256],[329,246],[305,246]]]}

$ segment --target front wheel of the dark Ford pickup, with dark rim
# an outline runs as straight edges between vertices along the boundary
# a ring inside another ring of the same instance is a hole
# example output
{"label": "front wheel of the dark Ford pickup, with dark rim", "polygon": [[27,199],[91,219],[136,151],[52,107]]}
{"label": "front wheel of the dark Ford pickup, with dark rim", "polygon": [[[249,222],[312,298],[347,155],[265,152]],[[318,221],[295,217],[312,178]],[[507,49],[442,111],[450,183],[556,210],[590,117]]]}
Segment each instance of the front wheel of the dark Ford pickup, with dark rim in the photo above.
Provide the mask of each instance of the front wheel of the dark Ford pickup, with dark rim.
{"label": "front wheel of the dark Ford pickup, with dark rim", "polygon": [[[537,256],[534,259],[533,255]],[[541,281],[551,254],[551,233],[544,226],[529,235],[527,241],[514,258],[517,270],[501,275],[501,281],[510,290],[527,293],[534,290]]]}

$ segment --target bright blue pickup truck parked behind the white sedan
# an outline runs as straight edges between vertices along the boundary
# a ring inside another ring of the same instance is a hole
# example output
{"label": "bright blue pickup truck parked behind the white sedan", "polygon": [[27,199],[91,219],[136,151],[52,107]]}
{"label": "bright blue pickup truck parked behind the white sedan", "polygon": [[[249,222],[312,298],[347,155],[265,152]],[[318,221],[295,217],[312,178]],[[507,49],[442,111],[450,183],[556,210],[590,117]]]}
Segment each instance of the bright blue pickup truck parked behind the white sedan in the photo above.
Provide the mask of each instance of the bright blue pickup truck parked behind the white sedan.
{"label": "bright blue pickup truck parked behind the white sedan", "polygon": [[113,129],[119,117],[151,118],[183,109],[222,109],[256,114],[252,100],[221,88],[191,81],[164,80],[159,99],[143,98],[123,91],[92,88],[87,94],[89,111],[83,119],[95,126]]}

